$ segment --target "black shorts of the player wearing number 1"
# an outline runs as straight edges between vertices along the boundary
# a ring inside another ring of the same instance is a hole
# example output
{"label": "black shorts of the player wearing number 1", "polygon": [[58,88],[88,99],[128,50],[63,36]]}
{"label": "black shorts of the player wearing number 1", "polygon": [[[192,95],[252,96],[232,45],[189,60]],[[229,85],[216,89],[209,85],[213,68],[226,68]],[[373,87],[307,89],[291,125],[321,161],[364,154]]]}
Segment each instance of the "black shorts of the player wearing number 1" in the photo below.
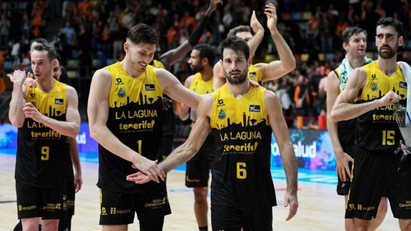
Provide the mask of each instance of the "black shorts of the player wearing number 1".
{"label": "black shorts of the player wearing number 1", "polygon": [[164,219],[171,214],[165,182],[153,184],[151,190],[124,193],[100,189],[100,225],[123,225],[138,219]]}

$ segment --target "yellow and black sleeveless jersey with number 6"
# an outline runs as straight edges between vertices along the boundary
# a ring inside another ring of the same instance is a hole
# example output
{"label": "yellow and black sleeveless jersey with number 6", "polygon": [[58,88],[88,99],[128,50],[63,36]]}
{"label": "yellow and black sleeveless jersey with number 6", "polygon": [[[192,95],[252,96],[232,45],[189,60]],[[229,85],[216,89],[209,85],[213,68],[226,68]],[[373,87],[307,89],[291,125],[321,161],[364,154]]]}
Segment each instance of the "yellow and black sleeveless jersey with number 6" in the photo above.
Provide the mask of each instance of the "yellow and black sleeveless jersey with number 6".
{"label": "yellow and black sleeveless jersey with number 6", "polygon": [[214,134],[214,185],[225,185],[240,200],[276,205],[270,172],[271,127],[263,87],[234,98],[227,85],[214,92],[210,125]]}

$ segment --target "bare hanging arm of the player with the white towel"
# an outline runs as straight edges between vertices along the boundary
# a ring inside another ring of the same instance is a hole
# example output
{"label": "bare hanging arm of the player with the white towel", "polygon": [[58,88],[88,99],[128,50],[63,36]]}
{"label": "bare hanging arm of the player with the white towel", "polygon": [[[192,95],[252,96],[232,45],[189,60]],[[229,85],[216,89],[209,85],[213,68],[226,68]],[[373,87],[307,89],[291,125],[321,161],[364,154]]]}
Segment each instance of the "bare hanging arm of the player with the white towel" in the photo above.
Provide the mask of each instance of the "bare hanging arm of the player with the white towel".
{"label": "bare hanging arm of the player with the white towel", "polygon": [[334,71],[331,71],[327,76],[327,128],[334,148],[335,159],[337,160],[335,171],[337,171],[337,174],[342,181],[347,181],[346,173],[351,177],[351,170],[348,166],[348,162],[352,162],[353,159],[345,153],[341,147],[340,138],[338,137],[338,124],[331,119],[332,106],[339,93],[340,81],[337,74],[335,74]]}

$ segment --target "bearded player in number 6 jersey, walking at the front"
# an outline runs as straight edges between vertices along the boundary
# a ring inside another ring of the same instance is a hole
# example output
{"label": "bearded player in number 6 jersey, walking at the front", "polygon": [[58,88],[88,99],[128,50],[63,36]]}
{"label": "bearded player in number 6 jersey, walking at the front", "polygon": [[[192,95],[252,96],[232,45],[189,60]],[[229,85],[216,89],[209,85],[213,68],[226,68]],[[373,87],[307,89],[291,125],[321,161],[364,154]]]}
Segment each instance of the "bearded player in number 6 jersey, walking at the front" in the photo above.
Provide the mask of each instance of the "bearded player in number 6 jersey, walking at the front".
{"label": "bearded player in number 6 jersey, walking at the front", "polygon": [[[267,17],[272,13],[266,12]],[[296,214],[298,207],[297,164],[281,104],[275,93],[251,87],[246,81],[251,58],[244,40],[226,38],[221,42],[220,54],[227,84],[201,99],[188,140],[159,166],[168,172],[192,158],[211,130],[216,147],[211,182],[213,230],[272,230],[272,206],[276,205],[270,171],[272,132],[287,178],[284,205],[290,205],[290,211],[286,220]],[[127,179],[150,181],[141,172]]]}

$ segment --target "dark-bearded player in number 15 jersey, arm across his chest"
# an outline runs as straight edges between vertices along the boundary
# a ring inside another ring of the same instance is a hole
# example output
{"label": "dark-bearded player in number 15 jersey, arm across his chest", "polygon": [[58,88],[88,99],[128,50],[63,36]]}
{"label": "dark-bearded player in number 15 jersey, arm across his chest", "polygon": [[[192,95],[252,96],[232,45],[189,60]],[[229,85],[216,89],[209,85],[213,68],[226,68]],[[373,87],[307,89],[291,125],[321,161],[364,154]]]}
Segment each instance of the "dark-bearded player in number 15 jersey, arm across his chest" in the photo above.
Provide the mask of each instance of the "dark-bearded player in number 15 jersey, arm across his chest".
{"label": "dark-bearded player in number 15 jersey, arm across his chest", "polygon": [[[356,68],[331,111],[334,122],[357,118],[358,150],[351,170],[345,218],[351,230],[369,230],[384,190],[401,230],[411,229],[411,173],[397,172],[400,156],[393,151],[402,137],[394,103],[406,105],[407,83],[396,63],[403,43],[402,23],[385,17],[377,22],[378,59]],[[385,188],[385,189],[384,189]]]}

